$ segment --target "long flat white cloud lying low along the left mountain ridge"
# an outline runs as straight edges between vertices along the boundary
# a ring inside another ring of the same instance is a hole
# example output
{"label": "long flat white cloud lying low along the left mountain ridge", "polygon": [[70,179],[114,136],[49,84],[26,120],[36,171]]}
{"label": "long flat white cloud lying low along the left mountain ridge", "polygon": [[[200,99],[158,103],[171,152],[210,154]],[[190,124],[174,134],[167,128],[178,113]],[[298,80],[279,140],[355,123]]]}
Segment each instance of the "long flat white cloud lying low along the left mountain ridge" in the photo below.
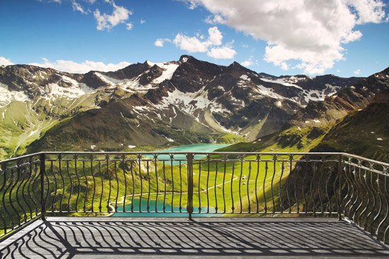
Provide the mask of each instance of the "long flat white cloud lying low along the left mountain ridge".
{"label": "long flat white cloud lying low along the left mountain ridge", "polygon": [[59,71],[65,71],[69,73],[88,73],[89,71],[117,71],[120,68],[125,68],[126,66],[129,66],[130,63],[122,61],[117,64],[104,64],[103,62],[95,62],[88,60],[83,61],[82,63],[77,63],[70,60],[50,61],[48,59],[43,58],[43,63],[31,63],[30,65],[41,66],[42,68],[54,68]]}

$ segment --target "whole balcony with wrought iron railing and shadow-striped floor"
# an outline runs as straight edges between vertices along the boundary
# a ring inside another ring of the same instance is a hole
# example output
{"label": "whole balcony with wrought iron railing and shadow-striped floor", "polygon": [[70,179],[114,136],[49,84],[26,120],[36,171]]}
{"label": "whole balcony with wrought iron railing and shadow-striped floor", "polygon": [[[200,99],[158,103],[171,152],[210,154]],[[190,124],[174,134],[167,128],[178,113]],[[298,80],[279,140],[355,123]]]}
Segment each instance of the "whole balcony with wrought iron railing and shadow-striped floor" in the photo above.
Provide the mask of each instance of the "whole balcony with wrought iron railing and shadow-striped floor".
{"label": "whole balcony with wrought iron railing and shadow-striped floor", "polygon": [[355,155],[41,152],[0,165],[0,258],[389,254],[389,164]]}

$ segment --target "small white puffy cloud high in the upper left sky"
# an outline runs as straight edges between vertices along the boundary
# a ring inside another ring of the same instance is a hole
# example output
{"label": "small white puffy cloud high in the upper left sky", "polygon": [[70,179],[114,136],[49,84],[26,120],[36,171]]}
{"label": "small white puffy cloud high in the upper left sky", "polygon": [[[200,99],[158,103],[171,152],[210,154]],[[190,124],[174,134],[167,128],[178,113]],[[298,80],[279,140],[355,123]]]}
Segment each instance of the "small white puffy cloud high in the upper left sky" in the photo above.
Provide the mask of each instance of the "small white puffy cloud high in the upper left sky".
{"label": "small white puffy cloud high in the upper left sky", "polygon": [[117,6],[114,1],[105,1],[112,4],[113,12],[112,14],[101,14],[98,9],[93,12],[93,16],[95,16],[95,20],[97,22],[98,30],[110,30],[120,23],[125,23],[129,16],[132,15],[132,11],[129,11],[123,6]]}

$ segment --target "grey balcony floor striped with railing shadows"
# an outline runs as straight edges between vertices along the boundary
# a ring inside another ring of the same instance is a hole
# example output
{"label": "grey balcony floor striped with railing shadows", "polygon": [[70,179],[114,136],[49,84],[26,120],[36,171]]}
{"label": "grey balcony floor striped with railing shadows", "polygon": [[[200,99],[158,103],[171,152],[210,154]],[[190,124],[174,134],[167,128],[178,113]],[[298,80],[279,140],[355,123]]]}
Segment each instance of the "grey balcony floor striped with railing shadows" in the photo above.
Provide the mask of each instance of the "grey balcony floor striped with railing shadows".
{"label": "grey balcony floor striped with railing shadows", "polygon": [[0,258],[388,258],[389,248],[336,219],[38,219],[0,242]]}

